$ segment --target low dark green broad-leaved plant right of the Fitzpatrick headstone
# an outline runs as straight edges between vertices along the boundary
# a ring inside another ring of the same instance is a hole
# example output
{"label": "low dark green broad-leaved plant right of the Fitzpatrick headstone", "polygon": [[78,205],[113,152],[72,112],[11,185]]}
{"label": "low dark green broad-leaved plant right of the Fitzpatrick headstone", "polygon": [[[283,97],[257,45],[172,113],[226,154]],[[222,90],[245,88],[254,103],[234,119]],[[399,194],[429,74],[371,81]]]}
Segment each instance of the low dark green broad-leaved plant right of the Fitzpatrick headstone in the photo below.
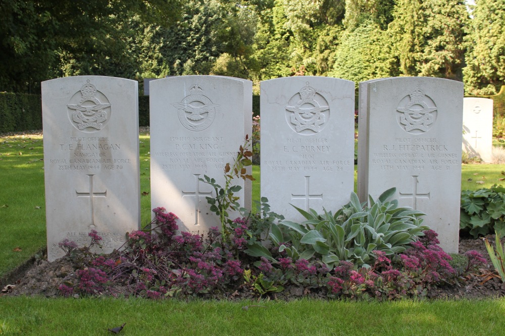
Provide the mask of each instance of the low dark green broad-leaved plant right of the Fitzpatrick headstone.
{"label": "low dark green broad-leaved plant right of the Fitzpatrick headstone", "polygon": [[462,191],[460,231],[474,238],[493,231],[505,235],[505,188],[494,184],[491,188]]}

